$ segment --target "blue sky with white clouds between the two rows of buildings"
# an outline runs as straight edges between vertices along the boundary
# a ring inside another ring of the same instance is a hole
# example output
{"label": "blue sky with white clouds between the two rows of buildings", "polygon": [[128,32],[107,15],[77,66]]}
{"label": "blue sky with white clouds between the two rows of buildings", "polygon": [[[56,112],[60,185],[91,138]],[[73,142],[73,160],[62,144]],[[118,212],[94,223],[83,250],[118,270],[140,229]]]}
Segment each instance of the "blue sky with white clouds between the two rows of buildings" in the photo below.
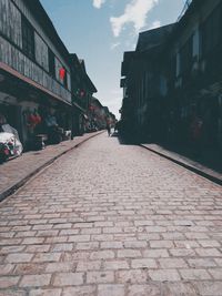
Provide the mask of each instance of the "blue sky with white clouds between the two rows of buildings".
{"label": "blue sky with white clouds between the two rows of buildings", "polygon": [[121,62],[139,32],[175,22],[185,0],[40,0],[70,53],[85,62],[93,96],[120,118]]}

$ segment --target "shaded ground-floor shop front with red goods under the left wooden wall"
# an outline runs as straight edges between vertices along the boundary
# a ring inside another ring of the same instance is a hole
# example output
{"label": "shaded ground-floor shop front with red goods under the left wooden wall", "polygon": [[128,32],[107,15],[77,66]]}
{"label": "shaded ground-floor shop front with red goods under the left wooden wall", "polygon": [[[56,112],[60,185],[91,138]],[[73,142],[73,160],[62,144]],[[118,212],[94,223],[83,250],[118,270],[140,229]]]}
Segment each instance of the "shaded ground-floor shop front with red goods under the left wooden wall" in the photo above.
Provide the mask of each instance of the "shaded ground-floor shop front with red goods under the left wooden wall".
{"label": "shaded ground-floor shop front with red goods under the left wooden wall", "polygon": [[40,135],[47,143],[71,135],[71,103],[32,81],[0,74],[0,113],[18,131],[24,150],[34,149]]}

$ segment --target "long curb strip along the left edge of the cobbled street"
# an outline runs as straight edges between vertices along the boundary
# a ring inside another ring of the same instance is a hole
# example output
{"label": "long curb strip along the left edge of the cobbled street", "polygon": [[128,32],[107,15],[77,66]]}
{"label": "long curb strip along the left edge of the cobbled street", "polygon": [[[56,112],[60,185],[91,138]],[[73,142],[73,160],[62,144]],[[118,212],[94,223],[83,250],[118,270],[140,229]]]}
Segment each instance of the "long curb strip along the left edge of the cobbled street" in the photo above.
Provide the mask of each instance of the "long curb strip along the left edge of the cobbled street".
{"label": "long curb strip along the left edge of the cobbled street", "polygon": [[26,177],[23,177],[21,181],[17,182],[13,186],[7,188],[6,191],[3,191],[2,193],[0,193],[0,202],[2,202],[3,200],[6,200],[8,196],[12,195],[13,193],[16,193],[21,186],[23,186],[31,177],[33,177],[34,175],[37,175],[40,171],[42,171],[43,169],[46,169],[47,166],[49,166],[50,164],[52,164],[56,160],[58,160],[59,157],[61,157],[62,155],[64,155],[65,153],[77,149],[78,146],[80,146],[81,144],[83,144],[84,142],[87,142],[88,140],[102,134],[104,131],[100,131],[97,132],[95,134],[90,135],[89,137],[82,140],[81,142],[74,144],[72,147],[69,147],[68,150],[61,152],[60,154],[53,156],[51,160],[47,161],[44,164],[42,164],[41,166],[39,166],[38,169],[36,169],[33,172],[31,172],[29,175],[27,175]]}

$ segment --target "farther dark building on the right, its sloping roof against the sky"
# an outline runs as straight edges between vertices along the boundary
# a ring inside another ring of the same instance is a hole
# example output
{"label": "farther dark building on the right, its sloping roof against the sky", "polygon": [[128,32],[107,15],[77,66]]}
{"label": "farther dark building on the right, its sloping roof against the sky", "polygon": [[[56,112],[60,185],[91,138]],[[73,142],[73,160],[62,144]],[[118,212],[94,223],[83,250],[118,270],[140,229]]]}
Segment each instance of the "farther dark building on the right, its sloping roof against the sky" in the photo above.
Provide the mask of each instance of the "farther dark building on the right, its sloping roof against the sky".
{"label": "farther dark building on the right, its sloping roof against the sky", "polygon": [[[158,100],[162,92],[159,55],[173,25],[165,25],[140,33],[137,49],[125,52],[122,62],[121,88],[123,130],[142,141],[157,134]],[[155,112],[153,112],[155,110]]]}

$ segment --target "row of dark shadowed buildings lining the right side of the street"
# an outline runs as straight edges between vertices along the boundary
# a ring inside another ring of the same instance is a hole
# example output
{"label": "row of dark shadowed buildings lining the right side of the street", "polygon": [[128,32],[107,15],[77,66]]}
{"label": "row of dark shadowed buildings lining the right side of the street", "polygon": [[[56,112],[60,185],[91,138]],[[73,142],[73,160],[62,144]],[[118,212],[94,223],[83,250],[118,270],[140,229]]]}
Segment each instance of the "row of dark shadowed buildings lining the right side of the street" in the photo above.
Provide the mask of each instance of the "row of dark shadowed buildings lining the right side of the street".
{"label": "row of dark shadowed buildings lining the right side of the street", "polygon": [[174,25],[140,33],[125,52],[122,122],[140,139],[189,143],[198,116],[204,145],[222,145],[222,2],[186,1]]}

